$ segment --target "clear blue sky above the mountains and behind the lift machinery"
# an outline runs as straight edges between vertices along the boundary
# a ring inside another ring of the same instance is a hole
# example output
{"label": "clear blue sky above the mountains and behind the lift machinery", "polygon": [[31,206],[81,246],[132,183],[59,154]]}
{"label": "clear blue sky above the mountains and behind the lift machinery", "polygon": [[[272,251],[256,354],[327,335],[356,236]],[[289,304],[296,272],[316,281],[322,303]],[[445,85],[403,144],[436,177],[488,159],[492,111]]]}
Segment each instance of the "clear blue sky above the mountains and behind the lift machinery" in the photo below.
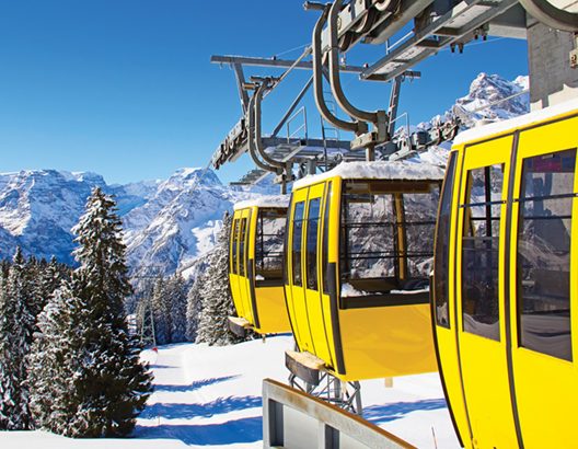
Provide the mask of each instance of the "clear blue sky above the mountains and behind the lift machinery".
{"label": "clear blue sky above the mountains and behind the lift machinery", "polygon": [[[94,171],[111,183],[205,166],[241,115],[233,72],[211,55],[284,58],[310,41],[316,12],[302,0],[19,0],[0,3],[0,171]],[[359,46],[358,46],[359,47]],[[355,48],[349,64],[383,47]],[[481,71],[528,73],[523,41],[441,51],[404,85],[412,123],[443,112]],[[271,73],[253,70],[253,73]],[[309,73],[296,72],[264,105],[270,131]],[[344,79],[361,107],[383,108],[390,84]],[[310,125],[319,116],[307,102]],[[314,134],[314,133],[313,133]],[[218,172],[233,181],[243,159]]]}

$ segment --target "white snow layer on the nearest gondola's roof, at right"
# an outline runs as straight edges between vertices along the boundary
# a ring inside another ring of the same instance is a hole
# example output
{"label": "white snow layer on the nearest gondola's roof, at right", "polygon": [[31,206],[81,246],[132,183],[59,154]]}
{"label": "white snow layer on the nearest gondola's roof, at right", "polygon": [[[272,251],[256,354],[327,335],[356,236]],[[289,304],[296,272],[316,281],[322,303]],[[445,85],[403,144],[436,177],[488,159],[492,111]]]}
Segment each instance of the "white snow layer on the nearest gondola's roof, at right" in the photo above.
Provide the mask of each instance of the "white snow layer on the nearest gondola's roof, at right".
{"label": "white snow layer on the nearest gondola's roof, at right", "polygon": [[488,136],[512,131],[517,128],[525,128],[533,124],[554,118],[558,115],[567,114],[578,110],[578,99],[568,100],[567,102],[545,107],[543,110],[532,111],[529,114],[510,118],[504,122],[496,122],[489,125],[478,126],[466,131],[460,133],[453,145],[463,145],[475,140],[486,139]]}

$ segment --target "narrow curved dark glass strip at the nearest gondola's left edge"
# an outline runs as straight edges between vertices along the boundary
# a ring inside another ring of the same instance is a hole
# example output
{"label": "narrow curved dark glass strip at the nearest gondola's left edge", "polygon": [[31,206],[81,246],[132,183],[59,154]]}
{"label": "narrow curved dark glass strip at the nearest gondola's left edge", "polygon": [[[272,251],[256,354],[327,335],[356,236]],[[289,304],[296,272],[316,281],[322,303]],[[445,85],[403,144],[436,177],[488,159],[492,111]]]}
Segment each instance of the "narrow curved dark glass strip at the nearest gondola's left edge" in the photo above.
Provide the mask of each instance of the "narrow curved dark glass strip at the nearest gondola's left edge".
{"label": "narrow curved dark glass strip at the nearest gondola's left edge", "polygon": [[438,325],[450,327],[448,311],[449,296],[449,260],[450,260],[450,218],[453,192],[453,180],[455,172],[455,159],[458,153],[450,156],[441,204],[438,216],[438,233],[436,235],[436,260],[434,267],[434,288],[436,290],[436,321]]}

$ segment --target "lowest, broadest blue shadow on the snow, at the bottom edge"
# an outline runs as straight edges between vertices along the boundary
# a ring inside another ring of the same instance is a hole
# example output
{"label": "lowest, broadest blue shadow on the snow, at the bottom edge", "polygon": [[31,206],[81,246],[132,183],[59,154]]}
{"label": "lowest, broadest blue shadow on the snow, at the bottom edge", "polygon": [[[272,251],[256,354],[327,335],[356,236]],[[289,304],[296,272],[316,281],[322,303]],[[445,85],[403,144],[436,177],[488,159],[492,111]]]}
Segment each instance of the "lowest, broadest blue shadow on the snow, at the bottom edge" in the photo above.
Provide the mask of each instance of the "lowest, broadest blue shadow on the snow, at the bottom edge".
{"label": "lowest, broadest blue shadow on the snow, at the bottom edge", "polygon": [[221,424],[163,424],[157,427],[137,426],[135,437],[144,439],[180,439],[186,445],[230,445],[263,439],[262,417],[246,417]]}

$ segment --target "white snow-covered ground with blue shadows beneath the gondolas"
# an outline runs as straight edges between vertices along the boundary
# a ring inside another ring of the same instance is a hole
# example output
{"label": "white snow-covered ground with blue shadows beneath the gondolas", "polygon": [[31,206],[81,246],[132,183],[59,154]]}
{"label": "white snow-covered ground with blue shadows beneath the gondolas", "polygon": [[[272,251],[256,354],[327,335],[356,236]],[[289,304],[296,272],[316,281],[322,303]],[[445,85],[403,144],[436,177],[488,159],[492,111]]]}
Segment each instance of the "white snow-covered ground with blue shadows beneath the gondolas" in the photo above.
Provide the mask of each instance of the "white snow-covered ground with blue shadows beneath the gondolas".
{"label": "white snow-covered ground with blue shadows beneath the gondolas", "polygon": [[[134,438],[72,440],[42,431],[0,433],[2,449],[262,447],[262,379],[287,379],[290,336],[227,347],[181,344],[144,352],[155,392]],[[361,382],[365,417],[418,448],[458,448],[437,375]],[[437,446],[436,446],[437,444]]]}

